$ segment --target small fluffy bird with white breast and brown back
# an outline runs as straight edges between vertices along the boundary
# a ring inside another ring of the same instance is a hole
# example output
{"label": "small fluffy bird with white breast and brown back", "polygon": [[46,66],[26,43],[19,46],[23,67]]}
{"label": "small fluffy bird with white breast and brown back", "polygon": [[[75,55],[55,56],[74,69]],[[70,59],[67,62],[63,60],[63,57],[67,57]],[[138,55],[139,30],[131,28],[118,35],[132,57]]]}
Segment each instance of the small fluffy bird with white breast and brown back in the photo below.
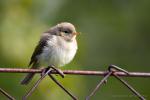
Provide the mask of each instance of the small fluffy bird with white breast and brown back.
{"label": "small fluffy bird with white breast and brown back", "polygon": [[[73,24],[62,22],[51,27],[41,35],[40,41],[36,46],[29,66],[32,69],[40,66],[64,66],[71,62],[77,51],[76,29]],[[29,73],[21,81],[27,85],[33,78],[34,73]]]}

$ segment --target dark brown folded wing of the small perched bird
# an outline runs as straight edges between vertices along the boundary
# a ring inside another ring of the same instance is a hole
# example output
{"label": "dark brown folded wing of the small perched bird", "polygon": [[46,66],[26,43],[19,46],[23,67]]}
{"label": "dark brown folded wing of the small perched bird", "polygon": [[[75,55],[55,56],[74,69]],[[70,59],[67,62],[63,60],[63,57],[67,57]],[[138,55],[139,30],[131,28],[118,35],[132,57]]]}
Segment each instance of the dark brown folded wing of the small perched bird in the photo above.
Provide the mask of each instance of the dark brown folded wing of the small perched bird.
{"label": "dark brown folded wing of the small perched bird", "polygon": [[50,38],[50,34],[47,34],[47,33],[44,33],[38,43],[38,45],[36,46],[33,54],[32,54],[32,57],[31,57],[31,60],[30,60],[30,63],[29,63],[29,66],[33,63],[36,63],[37,62],[37,55],[40,55],[43,51],[43,48],[44,46],[47,45],[47,40]]}

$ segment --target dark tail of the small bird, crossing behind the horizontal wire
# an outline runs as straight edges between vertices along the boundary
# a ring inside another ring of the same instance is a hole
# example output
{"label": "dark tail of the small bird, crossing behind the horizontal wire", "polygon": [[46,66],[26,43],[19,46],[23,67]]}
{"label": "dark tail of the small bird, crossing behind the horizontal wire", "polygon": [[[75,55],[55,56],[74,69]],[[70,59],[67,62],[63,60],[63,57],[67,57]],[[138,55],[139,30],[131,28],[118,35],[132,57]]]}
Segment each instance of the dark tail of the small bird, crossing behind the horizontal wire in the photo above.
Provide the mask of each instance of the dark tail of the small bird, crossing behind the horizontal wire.
{"label": "dark tail of the small bird, crossing behind the horizontal wire", "polygon": [[[38,67],[38,64],[33,64],[31,68],[32,68],[32,69],[35,69],[35,68],[37,68],[37,67]],[[29,73],[29,74],[27,74],[27,75],[25,76],[25,78],[21,81],[21,84],[22,84],[22,85],[27,85],[27,84],[32,80],[34,74],[35,74],[35,73]]]}

